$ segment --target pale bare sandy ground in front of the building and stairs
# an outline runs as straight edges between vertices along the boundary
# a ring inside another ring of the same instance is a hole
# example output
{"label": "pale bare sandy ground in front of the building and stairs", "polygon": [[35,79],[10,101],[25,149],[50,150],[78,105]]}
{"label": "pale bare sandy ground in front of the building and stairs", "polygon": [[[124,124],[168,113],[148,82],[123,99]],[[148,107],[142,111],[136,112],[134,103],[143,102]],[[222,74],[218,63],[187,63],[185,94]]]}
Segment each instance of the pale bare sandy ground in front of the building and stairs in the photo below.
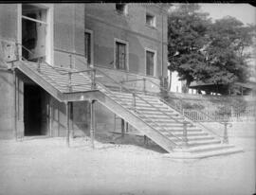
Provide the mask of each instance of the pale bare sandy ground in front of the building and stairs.
{"label": "pale bare sandy ground in front of the building and stairs", "polygon": [[[0,141],[1,195],[251,195],[255,192],[254,124],[234,124],[230,142],[245,152],[177,161],[151,144],[76,138]],[[119,141],[117,141],[119,140]],[[124,143],[124,144],[123,144]]]}

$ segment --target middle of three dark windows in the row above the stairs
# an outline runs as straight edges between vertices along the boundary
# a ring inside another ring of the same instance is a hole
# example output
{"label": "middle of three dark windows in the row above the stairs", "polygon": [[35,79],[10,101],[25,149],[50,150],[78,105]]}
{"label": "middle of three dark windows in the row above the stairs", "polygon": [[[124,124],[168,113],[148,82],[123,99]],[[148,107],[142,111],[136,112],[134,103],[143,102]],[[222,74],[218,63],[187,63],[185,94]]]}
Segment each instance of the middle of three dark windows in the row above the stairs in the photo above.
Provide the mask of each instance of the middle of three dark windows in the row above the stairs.
{"label": "middle of three dark windows in the row above the stairs", "polygon": [[115,65],[117,69],[128,70],[127,68],[127,44],[116,42]]}

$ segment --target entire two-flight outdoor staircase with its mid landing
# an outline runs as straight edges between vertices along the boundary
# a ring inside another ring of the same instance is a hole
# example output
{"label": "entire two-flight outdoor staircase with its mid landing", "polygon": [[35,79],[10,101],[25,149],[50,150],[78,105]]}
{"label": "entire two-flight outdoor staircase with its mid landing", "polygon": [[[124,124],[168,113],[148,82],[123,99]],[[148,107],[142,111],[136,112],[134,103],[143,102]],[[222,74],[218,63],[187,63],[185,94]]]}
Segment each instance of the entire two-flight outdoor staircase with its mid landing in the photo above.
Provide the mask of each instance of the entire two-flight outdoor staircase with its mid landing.
{"label": "entire two-flight outdoor staircase with its mid landing", "polygon": [[[96,88],[92,90],[92,78],[88,72],[78,73],[72,69],[71,72],[75,74],[70,74],[70,69],[53,67],[45,62],[40,66],[34,62],[17,62],[15,67],[60,101],[92,98],[100,101],[138,132],[168,151],[173,158],[203,158],[242,151],[221,143],[220,137],[198,127],[189,118],[161,101],[160,97],[132,94],[129,91],[111,91],[99,81],[96,81]],[[102,72],[98,72],[96,70],[96,79],[104,77]],[[187,121],[185,141],[184,121]]]}

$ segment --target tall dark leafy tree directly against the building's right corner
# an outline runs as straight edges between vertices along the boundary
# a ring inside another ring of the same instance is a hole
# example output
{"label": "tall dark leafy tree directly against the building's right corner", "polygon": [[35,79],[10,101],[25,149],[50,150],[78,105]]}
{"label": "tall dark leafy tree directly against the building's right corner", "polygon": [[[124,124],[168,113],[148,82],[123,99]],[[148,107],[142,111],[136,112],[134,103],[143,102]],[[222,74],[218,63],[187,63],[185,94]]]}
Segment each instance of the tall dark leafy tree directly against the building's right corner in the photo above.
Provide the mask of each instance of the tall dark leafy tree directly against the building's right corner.
{"label": "tall dark leafy tree directly against the building's right corner", "polygon": [[169,69],[177,71],[187,86],[203,70],[205,57],[199,51],[209,42],[210,19],[199,9],[197,4],[182,4],[168,18]]}

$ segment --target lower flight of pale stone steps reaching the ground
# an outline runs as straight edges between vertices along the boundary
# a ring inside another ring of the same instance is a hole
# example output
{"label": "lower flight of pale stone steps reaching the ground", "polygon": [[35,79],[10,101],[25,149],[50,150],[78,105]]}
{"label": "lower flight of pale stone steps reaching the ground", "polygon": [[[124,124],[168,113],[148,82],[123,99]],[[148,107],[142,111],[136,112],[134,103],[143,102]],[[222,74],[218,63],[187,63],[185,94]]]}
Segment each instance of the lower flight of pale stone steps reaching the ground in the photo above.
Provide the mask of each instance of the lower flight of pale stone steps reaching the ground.
{"label": "lower flight of pale stone steps reaching the ground", "polygon": [[[106,95],[115,99],[123,107],[133,109],[132,94],[112,92],[106,93]],[[174,152],[170,153],[171,157],[204,158],[242,151],[233,145],[221,143],[220,137],[197,127],[192,122],[187,127],[187,148],[183,148],[183,121],[188,118],[163,103],[158,97],[145,95],[137,95],[137,97],[141,97],[141,99],[136,99],[136,115],[177,145]]]}

